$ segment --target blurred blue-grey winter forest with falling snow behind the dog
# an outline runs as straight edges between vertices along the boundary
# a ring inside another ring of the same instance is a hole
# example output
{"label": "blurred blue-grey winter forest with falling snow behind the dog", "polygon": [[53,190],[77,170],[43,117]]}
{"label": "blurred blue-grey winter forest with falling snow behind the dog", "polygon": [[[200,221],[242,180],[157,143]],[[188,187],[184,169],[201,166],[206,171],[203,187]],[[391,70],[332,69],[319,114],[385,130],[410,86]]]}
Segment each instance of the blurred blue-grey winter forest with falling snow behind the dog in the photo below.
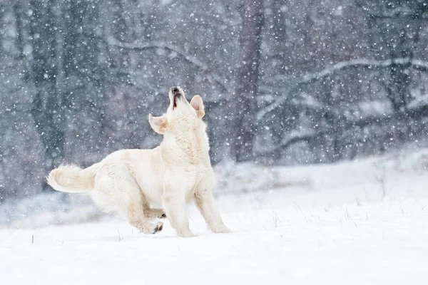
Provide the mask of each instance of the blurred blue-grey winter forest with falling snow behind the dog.
{"label": "blurred blue-grey winter forest with falling snow behind the dog", "polygon": [[155,147],[170,86],[205,100],[213,163],[427,145],[428,1],[0,1],[0,203]]}

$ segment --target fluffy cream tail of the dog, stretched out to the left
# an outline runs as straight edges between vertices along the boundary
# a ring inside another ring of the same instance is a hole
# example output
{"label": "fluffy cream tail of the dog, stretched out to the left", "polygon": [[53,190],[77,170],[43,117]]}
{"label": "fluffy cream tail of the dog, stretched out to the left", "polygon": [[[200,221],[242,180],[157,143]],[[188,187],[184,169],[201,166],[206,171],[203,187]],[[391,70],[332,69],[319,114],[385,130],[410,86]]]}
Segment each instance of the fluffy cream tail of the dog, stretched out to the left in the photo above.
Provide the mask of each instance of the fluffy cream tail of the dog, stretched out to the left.
{"label": "fluffy cream tail of the dog, stretched out to the left", "polygon": [[47,182],[57,191],[83,193],[93,190],[98,164],[81,169],[75,165],[61,165],[52,170]]}

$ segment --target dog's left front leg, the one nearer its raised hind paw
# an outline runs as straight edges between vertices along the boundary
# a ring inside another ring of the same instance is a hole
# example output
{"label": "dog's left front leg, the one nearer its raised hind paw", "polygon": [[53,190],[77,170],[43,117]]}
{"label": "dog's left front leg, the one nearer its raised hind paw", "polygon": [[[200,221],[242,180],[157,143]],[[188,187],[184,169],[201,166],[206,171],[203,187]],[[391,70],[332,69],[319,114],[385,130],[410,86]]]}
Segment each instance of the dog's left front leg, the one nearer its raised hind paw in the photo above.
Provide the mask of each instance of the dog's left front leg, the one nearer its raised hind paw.
{"label": "dog's left front leg, the one nearer its raised hind paw", "polygon": [[185,212],[185,186],[164,182],[162,207],[170,224],[180,237],[194,237]]}

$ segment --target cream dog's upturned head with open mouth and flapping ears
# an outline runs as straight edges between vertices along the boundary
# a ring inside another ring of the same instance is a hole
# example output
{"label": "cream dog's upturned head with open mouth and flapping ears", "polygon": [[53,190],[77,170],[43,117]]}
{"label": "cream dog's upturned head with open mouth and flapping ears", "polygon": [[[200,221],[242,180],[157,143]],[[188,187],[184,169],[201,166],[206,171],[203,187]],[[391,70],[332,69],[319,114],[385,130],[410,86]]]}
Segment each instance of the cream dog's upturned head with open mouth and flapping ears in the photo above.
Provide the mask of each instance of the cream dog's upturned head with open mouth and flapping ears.
{"label": "cream dog's upturned head with open mouth and flapping ears", "polygon": [[193,96],[189,103],[180,87],[171,87],[168,96],[170,105],[164,115],[159,117],[148,115],[151,128],[156,133],[165,134],[172,130],[188,130],[202,122],[205,110],[199,95]]}

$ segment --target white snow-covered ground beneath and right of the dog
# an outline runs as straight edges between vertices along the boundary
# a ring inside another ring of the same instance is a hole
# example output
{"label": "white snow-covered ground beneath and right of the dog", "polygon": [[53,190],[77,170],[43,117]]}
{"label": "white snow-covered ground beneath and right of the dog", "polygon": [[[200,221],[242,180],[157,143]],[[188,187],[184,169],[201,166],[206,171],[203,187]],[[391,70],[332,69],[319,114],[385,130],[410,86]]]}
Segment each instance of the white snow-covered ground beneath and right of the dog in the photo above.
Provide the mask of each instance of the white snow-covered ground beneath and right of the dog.
{"label": "white snow-covered ground beneath and right of the dog", "polygon": [[216,204],[232,234],[208,232],[195,207],[191,239],[168,222],[145,235],[111,217],[9,224],[0,229],[1,284],[427,284],[427,166],[427,153],[414,152],[217,169]]}

